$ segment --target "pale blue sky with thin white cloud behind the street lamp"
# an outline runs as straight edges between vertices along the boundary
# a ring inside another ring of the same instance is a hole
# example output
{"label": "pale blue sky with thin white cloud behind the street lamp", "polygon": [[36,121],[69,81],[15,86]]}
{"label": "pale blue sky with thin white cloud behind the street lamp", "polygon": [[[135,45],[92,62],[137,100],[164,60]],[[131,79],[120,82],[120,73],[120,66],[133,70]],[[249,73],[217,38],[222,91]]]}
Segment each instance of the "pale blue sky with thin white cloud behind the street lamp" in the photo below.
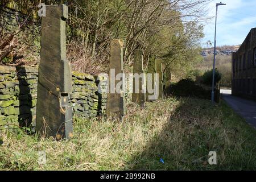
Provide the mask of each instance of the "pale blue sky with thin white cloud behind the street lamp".
{"label": "pale blue sky with thin white cloud behind the street lamp", "polygon": [[[219,2],[209,3],[209,16],[215,16]],[[218,7],[217,46],[241,44],[251,28],[256,27],[256,0],[222,0],[222,3],[226,6]],[[205,23],[203,47],[207,47],[204,43],[208,40],[214,44],[214,22],[215,18]]]}

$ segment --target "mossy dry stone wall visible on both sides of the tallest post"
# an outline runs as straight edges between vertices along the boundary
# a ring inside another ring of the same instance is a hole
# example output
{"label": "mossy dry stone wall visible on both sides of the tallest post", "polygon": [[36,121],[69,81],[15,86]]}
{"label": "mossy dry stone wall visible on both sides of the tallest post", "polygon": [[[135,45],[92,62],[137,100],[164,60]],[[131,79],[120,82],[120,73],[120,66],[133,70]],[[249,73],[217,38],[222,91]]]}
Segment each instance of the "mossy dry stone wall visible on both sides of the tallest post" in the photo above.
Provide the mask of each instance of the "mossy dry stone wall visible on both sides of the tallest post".
{"label": "mossy dry stone wall visible on both sides of the tallest post", "polygon": [[[105,113],[106,94],[98,93],[97,77],[73,72],[72,105],[75,117],[91,118]],[[0,66],[0,130],[28,126],[35,121],[37,67]]]}

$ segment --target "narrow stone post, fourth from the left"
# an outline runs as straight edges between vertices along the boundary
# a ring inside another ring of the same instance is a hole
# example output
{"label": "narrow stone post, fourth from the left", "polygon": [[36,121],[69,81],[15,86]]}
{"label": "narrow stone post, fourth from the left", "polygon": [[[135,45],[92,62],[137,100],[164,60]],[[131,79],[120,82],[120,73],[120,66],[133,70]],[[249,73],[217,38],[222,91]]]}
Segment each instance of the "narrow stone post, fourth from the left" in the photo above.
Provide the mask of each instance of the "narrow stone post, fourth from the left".
{"label": "narrow stone post, fourth from the left", "polygon": [[[154,93],[150,93],[148,87],[151,89],[155,89],[155,73],[156,73],[156,59],[155,55],[150,55],[147,66],[147,93],[146,93],[146,101],[155,101],[156,99],[150,99]],[[148,76],[151,76],[151,81],[148,80]]]}

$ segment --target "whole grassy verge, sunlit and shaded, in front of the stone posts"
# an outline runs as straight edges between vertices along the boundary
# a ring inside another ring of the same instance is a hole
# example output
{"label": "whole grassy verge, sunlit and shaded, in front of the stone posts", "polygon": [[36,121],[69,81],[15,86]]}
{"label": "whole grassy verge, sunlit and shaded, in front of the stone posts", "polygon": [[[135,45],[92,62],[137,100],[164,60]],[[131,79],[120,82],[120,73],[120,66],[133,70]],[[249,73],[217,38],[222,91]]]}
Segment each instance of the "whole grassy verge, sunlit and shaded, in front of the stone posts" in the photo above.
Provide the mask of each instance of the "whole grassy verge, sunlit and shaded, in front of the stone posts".
{"label": "whole grassy verge, sunlit and shaded, in front of the stone posts", "polygon": [[[76,118],[74,137],[56,142],[22,130],[2,132],[4,170],[256,169],[256,131],[223,101],[167,98],[128,106],[123,122]],[[46,164],[38,164],[38,152]],[[208,164],[209,151],[217,165]],[[164,163],[159,160],[163,159]]]}

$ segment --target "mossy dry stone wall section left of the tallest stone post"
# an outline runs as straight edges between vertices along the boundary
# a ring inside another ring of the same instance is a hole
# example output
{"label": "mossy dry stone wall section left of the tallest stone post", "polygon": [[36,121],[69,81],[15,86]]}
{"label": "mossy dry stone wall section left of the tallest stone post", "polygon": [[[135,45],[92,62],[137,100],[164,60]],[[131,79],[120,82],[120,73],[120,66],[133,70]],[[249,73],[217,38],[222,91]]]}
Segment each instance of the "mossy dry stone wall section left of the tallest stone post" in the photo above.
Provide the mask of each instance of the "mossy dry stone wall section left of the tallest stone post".
{"label": "mossy dry stone wall section left of the tallest stone post", "polygon": [[32,121],[35,115],[36,68],[0,67],[0,129]]}

